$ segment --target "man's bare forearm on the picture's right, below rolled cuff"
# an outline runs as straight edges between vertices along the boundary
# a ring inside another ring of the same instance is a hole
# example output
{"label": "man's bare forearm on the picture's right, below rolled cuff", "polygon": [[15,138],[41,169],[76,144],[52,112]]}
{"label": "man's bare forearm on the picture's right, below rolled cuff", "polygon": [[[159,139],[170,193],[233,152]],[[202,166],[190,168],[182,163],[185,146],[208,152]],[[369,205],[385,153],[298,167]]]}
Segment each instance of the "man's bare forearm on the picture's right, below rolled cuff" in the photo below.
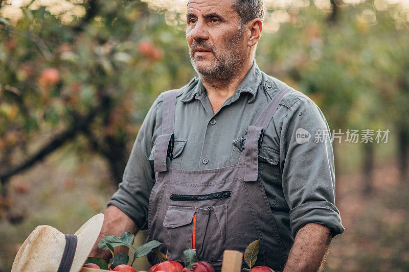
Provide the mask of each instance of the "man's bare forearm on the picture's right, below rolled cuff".
{"label": "man's bare forearm on the picture's right, below rolled cuff", "polygon": [[283,272],[321,271],[331,239],[332,234],[327,227],[306,224],[296,235]]}

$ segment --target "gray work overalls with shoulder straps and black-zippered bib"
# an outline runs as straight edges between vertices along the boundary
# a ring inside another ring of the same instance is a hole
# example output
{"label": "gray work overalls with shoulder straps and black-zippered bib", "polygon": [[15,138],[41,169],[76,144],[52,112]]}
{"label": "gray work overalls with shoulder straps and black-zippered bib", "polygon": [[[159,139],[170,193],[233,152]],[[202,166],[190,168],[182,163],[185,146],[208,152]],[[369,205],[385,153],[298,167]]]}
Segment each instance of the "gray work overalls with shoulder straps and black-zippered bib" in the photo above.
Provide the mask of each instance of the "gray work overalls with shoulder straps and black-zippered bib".
{"label": "gray work overalls with shoulder straps and black-zippered bib", "polygon": [[[176,91],[164,94],[163,132],[154,153],[158,175],[149,197],[148,241],[163,242],[158,249],[168,259],[183,262],[183,252],[195,249],[199,261],[220,270],[224,250],[244,252],[249,243],[260,239],[256,265],[283,269],[288,256],[258,177],[258,149],[283,96],[291,90],[286,87],[278,92],[255,124],[248,126],[238,164],[210,170],[170,168]],[[149,261],[158,262],[153,255]]]}

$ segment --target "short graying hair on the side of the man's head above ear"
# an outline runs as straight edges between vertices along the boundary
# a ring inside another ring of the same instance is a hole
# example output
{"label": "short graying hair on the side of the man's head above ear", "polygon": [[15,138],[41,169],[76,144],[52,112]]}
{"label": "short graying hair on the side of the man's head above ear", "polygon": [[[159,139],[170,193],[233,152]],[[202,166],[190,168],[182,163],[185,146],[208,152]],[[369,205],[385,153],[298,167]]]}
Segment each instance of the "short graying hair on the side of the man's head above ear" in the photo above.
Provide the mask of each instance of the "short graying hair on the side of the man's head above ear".
{"label": "short graying hair on the side of the man's head above ear", "polygon": [[264,20],[264,0],[234,0],[232,6],[240,16],[241,27],[255,18]]}

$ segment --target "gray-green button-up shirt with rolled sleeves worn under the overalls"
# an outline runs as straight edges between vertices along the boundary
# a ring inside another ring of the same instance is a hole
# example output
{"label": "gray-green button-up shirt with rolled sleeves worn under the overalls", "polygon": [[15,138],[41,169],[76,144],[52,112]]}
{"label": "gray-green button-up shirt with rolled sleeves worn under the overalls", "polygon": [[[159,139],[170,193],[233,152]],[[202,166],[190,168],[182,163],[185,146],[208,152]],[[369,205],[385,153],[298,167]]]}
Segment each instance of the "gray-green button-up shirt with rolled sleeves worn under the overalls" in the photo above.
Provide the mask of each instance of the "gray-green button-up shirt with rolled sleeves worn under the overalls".
{"label": "gray-green button-up shirt with rolled sleeves worn under the overalls", "polygon": [[[256,62],[235,93],[217,113],[200,79],[178,90],[175,145],[171,168],[205,170],[238,163],[248,125],[252,125],[279,89],[286,85],[266,76]],[[155,141],[162,134],[162,95],[153,103],[132,148],[123,181],[108,205],[147,228],[148,201],[155,183]],[[308,138],[308,135],[310,138]],[[315,137],[319,135],[319,137]],[[157,175],[157,174],[156,174]],[[289,252],[293,237],[308,222],[344,231],[335,207],[334,158],[327,121],[301,92],[285,96],[265,131],[259,152],[259,175],[281,240]]]}

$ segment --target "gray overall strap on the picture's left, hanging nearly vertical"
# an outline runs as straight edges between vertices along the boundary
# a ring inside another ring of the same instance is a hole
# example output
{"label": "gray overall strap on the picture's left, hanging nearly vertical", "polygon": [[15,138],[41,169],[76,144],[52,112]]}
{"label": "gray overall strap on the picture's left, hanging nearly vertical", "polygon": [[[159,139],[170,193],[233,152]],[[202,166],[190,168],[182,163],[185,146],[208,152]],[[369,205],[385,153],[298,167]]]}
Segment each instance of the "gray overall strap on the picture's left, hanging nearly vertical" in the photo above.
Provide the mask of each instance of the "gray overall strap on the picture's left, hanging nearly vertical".
{"label": "gray overall strap on the picture's left, hanging nearly vertical", "polygon": [[177,90],[167,91],[163,94],[162,105],[162,135],[157,137],[154,169],[155,172],[167,171],[169,167],[168,157],[172,158],[173,151],[173,127],[175,123],[175,107]]}

